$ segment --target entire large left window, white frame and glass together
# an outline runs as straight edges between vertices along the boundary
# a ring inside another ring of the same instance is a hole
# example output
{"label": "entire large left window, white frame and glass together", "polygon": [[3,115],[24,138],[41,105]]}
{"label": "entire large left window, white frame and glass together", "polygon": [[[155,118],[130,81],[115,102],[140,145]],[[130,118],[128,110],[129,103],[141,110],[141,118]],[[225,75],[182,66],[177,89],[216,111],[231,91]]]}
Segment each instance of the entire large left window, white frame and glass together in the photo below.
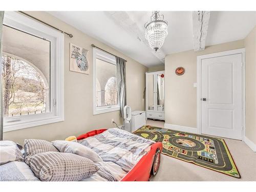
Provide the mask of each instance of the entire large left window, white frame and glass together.
{"label": "entire large left window, white frame and glass together", "polygon": [[4,132],[63,120],[63,34],[6,12],[1,78]]}

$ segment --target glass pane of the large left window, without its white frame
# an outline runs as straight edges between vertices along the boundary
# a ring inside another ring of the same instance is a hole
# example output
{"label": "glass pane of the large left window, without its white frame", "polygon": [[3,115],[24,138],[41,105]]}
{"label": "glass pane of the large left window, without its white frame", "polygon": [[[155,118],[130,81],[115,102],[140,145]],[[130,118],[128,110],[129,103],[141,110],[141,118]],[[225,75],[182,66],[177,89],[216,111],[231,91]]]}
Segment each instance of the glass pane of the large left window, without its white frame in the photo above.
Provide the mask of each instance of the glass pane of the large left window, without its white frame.
{"label": "glass pane of the large left window, without its white frame", "polygon": [[1,58],[5,117],[50,112],[50,41],[3,27]]}

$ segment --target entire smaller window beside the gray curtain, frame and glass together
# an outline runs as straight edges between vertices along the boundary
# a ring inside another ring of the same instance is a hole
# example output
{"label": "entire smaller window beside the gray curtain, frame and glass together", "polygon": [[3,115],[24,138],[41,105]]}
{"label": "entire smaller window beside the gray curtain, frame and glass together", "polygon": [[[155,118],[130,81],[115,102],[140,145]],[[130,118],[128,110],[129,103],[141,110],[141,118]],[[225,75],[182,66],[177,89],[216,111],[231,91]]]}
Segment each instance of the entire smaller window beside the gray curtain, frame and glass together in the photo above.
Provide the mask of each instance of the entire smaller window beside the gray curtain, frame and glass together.
{"label": "entire smaller window beside the gray curtain, frame and glass together", "polygon": [[93,114],[120,110],[117,99],[116,57],[93,49]]}

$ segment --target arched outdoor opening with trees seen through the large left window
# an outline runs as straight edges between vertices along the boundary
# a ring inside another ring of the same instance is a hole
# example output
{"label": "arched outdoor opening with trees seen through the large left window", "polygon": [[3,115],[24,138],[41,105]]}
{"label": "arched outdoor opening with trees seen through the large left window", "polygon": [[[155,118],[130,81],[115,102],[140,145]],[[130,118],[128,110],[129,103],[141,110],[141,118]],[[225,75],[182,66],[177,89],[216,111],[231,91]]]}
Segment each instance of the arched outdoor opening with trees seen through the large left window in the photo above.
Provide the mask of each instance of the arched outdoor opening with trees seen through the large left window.
{"label": "arched outdoor opening with trees seen through the large left window", "polygon": [[12,55],[1,58],[5,116],[44,113],[49,88],[36,67]]}

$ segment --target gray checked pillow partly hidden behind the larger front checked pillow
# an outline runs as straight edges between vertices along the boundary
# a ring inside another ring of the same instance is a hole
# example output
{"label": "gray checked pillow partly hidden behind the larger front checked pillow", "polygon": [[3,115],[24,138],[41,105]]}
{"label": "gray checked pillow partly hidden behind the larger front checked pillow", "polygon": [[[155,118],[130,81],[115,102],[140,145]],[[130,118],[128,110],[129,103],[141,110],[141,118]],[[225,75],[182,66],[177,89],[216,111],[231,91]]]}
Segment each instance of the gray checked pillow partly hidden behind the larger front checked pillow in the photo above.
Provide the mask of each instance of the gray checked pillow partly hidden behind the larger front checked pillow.
{"label": "gray checked pillow partly hidden behind the larger front checked pillow", "polygon": [[51,142],[40,139],[25,139],[24,151],[26,163],[29,156],[43,152],[59,152]]}

